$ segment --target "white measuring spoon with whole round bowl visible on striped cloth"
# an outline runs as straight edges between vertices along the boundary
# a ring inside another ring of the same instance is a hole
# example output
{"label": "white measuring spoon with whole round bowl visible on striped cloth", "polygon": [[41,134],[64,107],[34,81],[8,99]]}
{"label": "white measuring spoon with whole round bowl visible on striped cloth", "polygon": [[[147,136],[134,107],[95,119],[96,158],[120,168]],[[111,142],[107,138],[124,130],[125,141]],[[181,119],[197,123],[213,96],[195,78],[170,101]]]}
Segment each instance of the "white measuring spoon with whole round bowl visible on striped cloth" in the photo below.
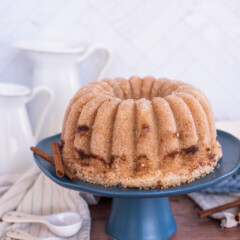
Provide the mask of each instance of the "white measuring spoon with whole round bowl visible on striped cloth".
{"label": "white measuring spoon with whole round bowl visible on striped cloth", "polygon": [[6,213],[2,220],[15,223],[43,223],[49,230],[59,237],[70,237],[76,234],[82,226],[82,217],[74,212],[56,213],[46,216],[30,215],[11,211]]}

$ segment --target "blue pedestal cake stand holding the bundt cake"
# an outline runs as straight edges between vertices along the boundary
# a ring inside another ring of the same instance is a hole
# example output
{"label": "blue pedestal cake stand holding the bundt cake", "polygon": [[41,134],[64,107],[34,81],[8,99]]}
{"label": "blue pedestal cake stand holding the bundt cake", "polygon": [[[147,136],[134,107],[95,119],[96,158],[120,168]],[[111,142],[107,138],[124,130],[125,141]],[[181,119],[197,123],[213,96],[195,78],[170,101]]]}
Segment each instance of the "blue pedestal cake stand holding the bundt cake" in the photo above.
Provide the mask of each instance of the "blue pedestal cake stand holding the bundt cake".
{"label": "blue pedestal cake stand holding the bundt cake", "polygon": [[[223,149],[219,168],[194,182],[167,189],[124,189],[104,187],[81,180],[72,182],[66,177],[57,177],[55,168],[41,157],[34,154],[34,159],[49,178],[63,187],[113,198],[106,225],[107,233],[113,238],[159,240],[169,238],[177,229],[168,200],[169,196],[182,195],[209,187],[235,173],[240,167],[240,141],[223,131],[218,131],[218,140]],[[42,140],[37,147],[51,155],[50,145],[53,141],[59,142],[60,134]]]}

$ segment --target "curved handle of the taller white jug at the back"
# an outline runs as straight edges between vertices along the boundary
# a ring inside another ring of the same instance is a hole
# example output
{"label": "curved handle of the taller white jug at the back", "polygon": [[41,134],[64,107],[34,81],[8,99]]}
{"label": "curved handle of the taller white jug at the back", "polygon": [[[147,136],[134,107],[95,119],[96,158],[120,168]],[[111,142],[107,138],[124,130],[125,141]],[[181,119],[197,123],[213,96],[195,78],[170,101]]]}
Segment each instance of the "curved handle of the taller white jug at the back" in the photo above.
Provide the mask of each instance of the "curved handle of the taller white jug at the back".
{"label": "curved handle of the taller white jug at the back", "polygon": [[80,57],[77,58],[77,62],[81,62],[85,59],[87,59],[90,55],[92,55],[95,51],[104,51],[106,58],[105,58],[105,62],[102,65],[101,69],[99,70],[98,74],[97,74],[97,78],[96,80],[99,81],[103,74],[106,72],[107,67],[109,66],[109,63],[111,61],[111,51],[110,49],[102,44],[93,44],[90,45],[87,50],[83,53],[83,55],[81,55]]}

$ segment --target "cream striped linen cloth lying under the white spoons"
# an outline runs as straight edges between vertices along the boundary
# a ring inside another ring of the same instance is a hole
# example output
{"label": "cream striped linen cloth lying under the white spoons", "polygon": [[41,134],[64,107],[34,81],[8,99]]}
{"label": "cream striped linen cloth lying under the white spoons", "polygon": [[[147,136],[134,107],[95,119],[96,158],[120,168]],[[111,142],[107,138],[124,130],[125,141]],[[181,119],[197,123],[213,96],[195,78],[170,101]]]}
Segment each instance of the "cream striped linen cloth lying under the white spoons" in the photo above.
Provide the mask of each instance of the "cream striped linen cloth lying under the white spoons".
{"label": "cream striped linen cloth lying under the white spoons", "polygon": [[[83,225],[75,236],[68,238],[70,240],[90,239],[91,218],[87,203],[96,204],[97,201],[98,198],[91,194],[79,193],[57,185],[41,173],[36,165],[20,177],[10,175],[0,177],[0,217],[11,210],[36,215],[76,212],[82,216]],[[54,236],[42,224],[0,222],[0,238],[6,231],[14,228],[23,228],[37,237]]]}

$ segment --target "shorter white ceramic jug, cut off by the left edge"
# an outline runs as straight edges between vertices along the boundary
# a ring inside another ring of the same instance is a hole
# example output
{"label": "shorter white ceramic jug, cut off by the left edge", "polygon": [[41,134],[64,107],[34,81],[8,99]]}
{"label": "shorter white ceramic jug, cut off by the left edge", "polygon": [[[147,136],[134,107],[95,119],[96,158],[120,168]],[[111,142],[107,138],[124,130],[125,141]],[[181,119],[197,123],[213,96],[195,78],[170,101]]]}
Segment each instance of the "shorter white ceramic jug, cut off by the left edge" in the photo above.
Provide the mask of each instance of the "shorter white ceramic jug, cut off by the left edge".
{"label": "shorter white ceramic jug, cut off by the left edge", "polygon": [[[37,123],[31,124],[26,105],[37,96],[47,96],[47,103],[38,109]],[[52,96],[46,87],[31,92],[22,85],[0,83],[0,175],[22,173],[33,164],[29,148],[38,139]]]}

